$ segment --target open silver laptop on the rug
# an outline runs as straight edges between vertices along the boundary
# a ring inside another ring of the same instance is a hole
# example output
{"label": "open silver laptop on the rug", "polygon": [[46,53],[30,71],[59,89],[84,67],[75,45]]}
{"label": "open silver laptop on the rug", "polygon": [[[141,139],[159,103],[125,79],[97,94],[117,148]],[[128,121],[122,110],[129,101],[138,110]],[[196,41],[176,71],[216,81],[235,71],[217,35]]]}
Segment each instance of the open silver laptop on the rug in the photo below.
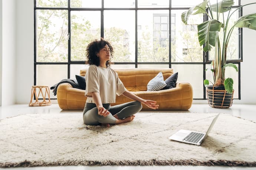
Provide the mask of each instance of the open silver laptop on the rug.
{"label": "open silver laptop on the rug", "polygon": [[204,139],[206,139],[206,137],[210,133],[210,131],[213,128],[213,125],[216,122],[219,115],[220,115],[220,113],[215,116],[215,118],[211,122],[211,125],[208,128],[206,133],[194,132],[194,131],[190,131],[190,130],[181,129],[177,133],[175,133],[174,135],[170,136],[168,139],[200,146],[201,143],[204,141]]}

